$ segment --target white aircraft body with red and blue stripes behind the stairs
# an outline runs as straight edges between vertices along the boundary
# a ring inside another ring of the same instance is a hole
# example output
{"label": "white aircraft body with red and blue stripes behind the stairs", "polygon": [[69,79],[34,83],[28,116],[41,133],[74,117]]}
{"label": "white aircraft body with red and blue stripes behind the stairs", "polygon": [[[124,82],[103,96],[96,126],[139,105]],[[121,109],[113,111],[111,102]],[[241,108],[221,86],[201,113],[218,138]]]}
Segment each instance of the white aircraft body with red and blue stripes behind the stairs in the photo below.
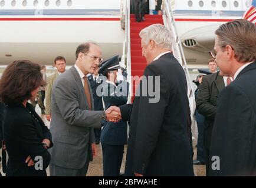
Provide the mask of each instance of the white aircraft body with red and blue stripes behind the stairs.
{"label": "white aircraft body with red and blue stripes behind the stairs", "polygon": [[[17,59],[52,65],[58,55],[75,61],[78,44],[99,43],[103,58],[123,54],[121,7],[126,0],[0,0],[0,65]],[[172,1],[189,67],[205,67],[220,24],[241,18],[245,0]],[[155,0],[149,0],[150,12]]]}

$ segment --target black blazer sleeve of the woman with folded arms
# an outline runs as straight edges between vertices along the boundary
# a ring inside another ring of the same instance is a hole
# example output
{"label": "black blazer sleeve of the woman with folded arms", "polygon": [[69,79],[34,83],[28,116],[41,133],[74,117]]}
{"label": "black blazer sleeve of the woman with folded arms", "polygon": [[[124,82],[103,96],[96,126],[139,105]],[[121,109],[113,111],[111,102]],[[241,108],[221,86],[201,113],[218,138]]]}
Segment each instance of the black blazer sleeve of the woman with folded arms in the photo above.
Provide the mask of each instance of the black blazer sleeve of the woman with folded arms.
{"label": "black blazer sleeve of the woman with folded arms", "polygon": [[[31,156],[34,160],[36,156],[41,156],[43,160],[43,167],[46,169],[50,163],[50,153],[42,145],[42,140],[37,135],[35,126],[28,120],[22,120],[19,126],[19,137],[17,143]],[[25,162],[25,159],[24,159]]]}

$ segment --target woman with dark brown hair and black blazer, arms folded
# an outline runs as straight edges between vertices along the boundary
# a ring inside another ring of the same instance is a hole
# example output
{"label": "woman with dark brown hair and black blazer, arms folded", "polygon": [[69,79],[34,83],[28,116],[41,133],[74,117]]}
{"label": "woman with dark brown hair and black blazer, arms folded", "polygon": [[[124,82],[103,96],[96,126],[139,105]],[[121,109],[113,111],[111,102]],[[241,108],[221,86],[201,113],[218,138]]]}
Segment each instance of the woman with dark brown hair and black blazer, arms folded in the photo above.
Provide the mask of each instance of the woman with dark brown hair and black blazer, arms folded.
{"label": "woman with dark brown hair and black blazer, arms folded", "polygon": [[6,176],[47,176],[51,133],[28,103],[43,84],[40,65],[30,61],[14,61],[2,74],[0,99],[6,105],[3,127],[9,155]]}

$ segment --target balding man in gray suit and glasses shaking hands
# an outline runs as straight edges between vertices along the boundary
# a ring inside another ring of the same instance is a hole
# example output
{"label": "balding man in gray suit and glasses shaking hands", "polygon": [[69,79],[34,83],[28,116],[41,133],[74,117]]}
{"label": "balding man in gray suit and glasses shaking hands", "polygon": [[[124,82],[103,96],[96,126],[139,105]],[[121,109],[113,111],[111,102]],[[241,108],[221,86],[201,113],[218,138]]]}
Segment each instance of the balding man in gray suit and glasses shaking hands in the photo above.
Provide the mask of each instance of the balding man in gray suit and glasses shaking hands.
{"label": "balding man in gray suit and glasses shaking hands", "polygon": [[102,62],[96,43],[77,47],[76,64],[60,75],[52,88],[51,176],[85,176],[88,163],[96,157],[93,128],[101,127],[104,111],[92,111],[93,94],[87,73],[93,73]]}

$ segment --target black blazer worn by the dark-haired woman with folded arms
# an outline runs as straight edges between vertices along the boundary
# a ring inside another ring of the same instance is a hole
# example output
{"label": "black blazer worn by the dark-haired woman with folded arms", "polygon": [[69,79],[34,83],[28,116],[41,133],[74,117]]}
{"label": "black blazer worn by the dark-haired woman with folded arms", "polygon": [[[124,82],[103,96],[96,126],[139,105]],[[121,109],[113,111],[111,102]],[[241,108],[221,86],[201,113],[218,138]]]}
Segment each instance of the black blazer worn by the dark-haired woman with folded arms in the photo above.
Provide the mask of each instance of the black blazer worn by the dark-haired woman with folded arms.
{"label": "black blazer worn by the dark-haired woman with folded arms", "polygon": [[[43,139],[51,141],[50,130],[30,103],[26,107],[6,105],[4,140],[9,155],[6,176],[47,176],[45,169],[51,156],[42,144]],[[28,167],[25,163],[28,156],[36,163],[34,166]]]}

